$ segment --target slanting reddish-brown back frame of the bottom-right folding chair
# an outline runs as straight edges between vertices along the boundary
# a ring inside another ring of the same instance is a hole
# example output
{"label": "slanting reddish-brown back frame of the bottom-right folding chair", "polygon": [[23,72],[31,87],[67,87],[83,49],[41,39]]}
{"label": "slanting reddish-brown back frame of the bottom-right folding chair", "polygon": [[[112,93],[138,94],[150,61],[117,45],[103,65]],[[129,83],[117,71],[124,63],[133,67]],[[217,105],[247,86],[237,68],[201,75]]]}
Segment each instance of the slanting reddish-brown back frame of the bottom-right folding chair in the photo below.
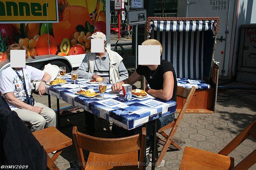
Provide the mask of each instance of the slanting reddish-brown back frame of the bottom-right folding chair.
{"label": "slanting reddish-brown back frame of the bottom-right folding chair", "polygon": [[[239,133],[230,143],[228,143],[218,154],[228,155],[230,154],[239,144],[241,144],[249,136],[256,140],[256,120],[254,120],[243,132]],[[252,151],[245,159],[238,163],[231,170],[247,170],[256,163],[256,149]]]}

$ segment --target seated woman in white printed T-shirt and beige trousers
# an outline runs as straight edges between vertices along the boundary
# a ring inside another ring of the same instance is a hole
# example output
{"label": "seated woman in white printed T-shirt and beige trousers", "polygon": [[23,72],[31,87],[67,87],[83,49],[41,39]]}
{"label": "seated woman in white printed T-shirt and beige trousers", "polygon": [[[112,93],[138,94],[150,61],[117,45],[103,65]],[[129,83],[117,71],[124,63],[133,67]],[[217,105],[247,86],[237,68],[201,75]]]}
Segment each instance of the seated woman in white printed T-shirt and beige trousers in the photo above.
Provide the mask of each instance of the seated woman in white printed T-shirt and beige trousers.
{"label": "seated woman in white printed T-shirt and beige trousers", "polygon": [[[12,44],[6,51],[6,57],[10,61],[10,50],[26,50],[26,60],[28,59],[28,49],[19,44]],[[0,91],[8,102],[11,110],[17,112],[24,122],[32,124],[32,132],[50,126],[56,126],[56,114],[47,106],[35,102],[32,106],[26,104],[24,100],[31,97],[32,80],[41,80],[38,93],[42,96],[46,89],[45,84],[49,82],[51,75],[32,66],[24,68],[7,67],[0,73]]]}

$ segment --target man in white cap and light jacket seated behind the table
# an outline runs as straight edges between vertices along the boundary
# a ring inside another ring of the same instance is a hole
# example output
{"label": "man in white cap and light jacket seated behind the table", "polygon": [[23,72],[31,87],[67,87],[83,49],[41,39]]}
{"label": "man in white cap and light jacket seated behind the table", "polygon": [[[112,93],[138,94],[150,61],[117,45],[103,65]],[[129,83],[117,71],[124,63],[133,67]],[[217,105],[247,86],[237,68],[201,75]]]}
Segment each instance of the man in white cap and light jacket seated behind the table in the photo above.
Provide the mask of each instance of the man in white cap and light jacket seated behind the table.
{"label": "man in white cap and light jacket seated behind the table", "polygon": [[[106,45],[106,35],[102,32],[96,32],[87,39],[103,39],[104,46]],[[122,57],[107,48],[104,48],[103,53],[87,53],[77,71],[80,78],[96,79],[102,77],[104,81],[111,84],[128,78],[128,71],[122,62]],[[93,114],[85,113],[85,124],[86,132],[93,134],[95,132]]]}

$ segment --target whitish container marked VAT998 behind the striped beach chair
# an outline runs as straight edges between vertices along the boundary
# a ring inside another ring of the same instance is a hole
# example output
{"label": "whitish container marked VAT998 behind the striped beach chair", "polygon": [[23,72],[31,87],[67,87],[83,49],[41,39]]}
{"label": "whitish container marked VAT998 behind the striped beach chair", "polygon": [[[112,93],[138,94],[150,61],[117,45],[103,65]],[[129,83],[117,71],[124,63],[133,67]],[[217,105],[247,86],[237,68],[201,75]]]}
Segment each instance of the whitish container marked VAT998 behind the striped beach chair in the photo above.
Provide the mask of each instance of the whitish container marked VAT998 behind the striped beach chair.
{"label": "whitish container marked VAT998 behind the striped beach chair", "polygon": [[214,58],[220,64],[220,78],[236,75],[241,24],[256,23],[254,0],[178,0],[177,17],[219,17]]}

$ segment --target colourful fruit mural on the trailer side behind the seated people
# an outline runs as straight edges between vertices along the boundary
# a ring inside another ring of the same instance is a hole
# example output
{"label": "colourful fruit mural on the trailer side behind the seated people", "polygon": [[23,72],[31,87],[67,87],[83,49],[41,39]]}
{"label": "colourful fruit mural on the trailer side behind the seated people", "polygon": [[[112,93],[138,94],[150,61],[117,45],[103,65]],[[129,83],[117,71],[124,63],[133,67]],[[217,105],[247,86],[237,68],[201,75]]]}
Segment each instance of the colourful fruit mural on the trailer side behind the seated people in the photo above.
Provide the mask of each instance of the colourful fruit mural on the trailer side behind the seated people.
{"label": "colourful fruit mural on the trailer side behind the seated people", "polygon": [[[87,38],[96,31],[106,35],[106,0],[57,0],[57,15],[54,9],[49,10],[50,2],[55,0],[8,0],[8,2],[15,2],[18,5],[18,14],[23,12],[24,15],[28,14],[28,11],[32,14],[35,2],[41,4],[41,8],[36,9],[38,11],[40,9],[44,15],[43,6],[47,2],[48,6],[47,3],[45,6],[48,18],[49,16],[58,18],[57,22],[35,20],[33,23],[24,23],[24,21],[17,23],[17,16],[11,16],[13,22],[4,23],[0,15],[0,62],[5,60],[8,46],[14,43],[26,46],[31,57],[49,54],[68,57],[68,55],[88,53],[91,50],[91,40]],[[29,7],[23,4],[23,9],[20,9],[19,2],[27,2]],[[6,10],[6,7],[9,7],[6,3],[7,0],[0,1],[0,14],[3,13],[2,9]],[[13,11],[11,13],[13,14]]]}

